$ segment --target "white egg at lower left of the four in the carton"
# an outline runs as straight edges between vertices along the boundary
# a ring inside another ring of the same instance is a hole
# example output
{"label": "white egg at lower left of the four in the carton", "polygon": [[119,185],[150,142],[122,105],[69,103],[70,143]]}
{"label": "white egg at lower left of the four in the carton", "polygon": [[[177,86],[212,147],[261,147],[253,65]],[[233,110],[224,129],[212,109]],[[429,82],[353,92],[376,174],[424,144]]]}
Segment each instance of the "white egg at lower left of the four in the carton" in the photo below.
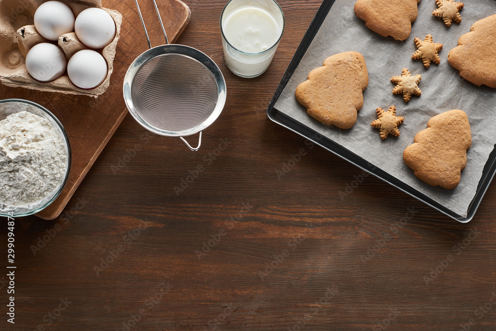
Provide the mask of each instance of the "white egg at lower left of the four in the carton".
{"label": "white egg at lower left of the four in the carton", "polygon": [[41,43],[33,46],[26,56],[26,67],[34,79],[48,82],[63,75],[67,60],[62,50],[54,44]]}

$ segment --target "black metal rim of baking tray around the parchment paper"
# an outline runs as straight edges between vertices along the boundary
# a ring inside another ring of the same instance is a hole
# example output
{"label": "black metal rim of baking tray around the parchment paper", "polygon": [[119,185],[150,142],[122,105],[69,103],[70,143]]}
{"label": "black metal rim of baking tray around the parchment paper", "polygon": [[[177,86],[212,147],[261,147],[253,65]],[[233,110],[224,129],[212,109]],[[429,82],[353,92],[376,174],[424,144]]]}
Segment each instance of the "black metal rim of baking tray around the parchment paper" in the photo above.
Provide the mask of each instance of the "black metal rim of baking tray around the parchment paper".
{"label": "black metal rim of baking tray around the parchment paper", "polygon": [[[359,157],[355,153],[351,152],[350,150],[344,148],[343,146],[337,144],[333,140],[322,136],[318,134],[316,131],[313,129],[310,129],[306,125],[303,125],[302,123],[296,121],[295,119],[283,114],[282,112],[278,111],[276,108],[274,108],[274,105],[276,104],[277,100],[279,99],[279,96],[281,95],[282,91],[286,87],[289,79],[295,72],[296,68],[300,64],[300,61],[302,60],[303,56],[307,52],[307,49],[310,47],[310,44],[317,34],[318,30],[320,29],[320,26],[322,25],[322,22],[326,18],[327,14],[329,13],[329,10],[331,9],[332,5],[334,4],[335,0],[324,0],[322,4],[320,5],[320,8],[318,9],[317,13],[315,14],[315,17],[310,23],[310,27],[307,30],[305,36],[303,37],[302,42],[300,43],[300,46],[298,47],[293,59],[291,60],[290,65],[288,66],[288,69],[286,70],[286,73],[284,74],[281,82],[279,83],[279,86],[277,87],[277,90],[267,107],[267,116],[269,117],[270,120],[273,122],[293,131],[301,136],[309,139],[313,143],[327,149],[328,151],[334,153],[335,155],[341,157],[342,159],[354,164],[355,166],[359,167],[360,169],[367,171],[371,175],[383,180],[386,183],[391,184],[392,186],[398,188],[399,190],[409,194],[410,196],[419,199],[420,201],[430,205],[431,207],[439,210],[443,214],[461,222],[461,223],[467,223],[469,222],[475,215],[477,208],[481,204],[482,198],[486,194],[486,191],[489,188],[489,185],[493,181],[493,178],[496,174],[496,150],[493,150],[489,156],[488,161],[486,162],[486,165],[484,166],[484,170],[482,173],[481,180],[479,181],[478,187],[476,194],[474,196],[474,199],[472,199],[469,208],[467,210],[467,216],[461,216],[458,215],[457,213],[451,211],[450,209],[442,206],[438,202],[434,201],[433,199],[427,197],[425,194],[419,192],[418,190],[412,188],[411,186],[405,184],[404,182],[398,180],[397,178],[391,176],[387,172],[376,168],[369,164],[365,159]],[[318,135],[319,137],[322,136],[322,138],[316,140],[314,137],[315,135]]]}

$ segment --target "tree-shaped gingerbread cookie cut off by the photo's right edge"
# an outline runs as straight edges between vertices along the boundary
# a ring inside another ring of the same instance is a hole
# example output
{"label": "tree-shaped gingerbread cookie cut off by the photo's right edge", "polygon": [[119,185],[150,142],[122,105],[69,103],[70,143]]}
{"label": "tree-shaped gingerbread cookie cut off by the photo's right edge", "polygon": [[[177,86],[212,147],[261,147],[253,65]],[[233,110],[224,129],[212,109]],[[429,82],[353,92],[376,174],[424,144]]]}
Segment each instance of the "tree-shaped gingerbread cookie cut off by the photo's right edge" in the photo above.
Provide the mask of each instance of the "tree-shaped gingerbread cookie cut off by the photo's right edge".
{"label": "tree-shaped gingerbread cookie cut off by the photo's right edge", "polygon": [[496,15],[475,22],[448,54],[460,76],[481,86],[496,88]]}

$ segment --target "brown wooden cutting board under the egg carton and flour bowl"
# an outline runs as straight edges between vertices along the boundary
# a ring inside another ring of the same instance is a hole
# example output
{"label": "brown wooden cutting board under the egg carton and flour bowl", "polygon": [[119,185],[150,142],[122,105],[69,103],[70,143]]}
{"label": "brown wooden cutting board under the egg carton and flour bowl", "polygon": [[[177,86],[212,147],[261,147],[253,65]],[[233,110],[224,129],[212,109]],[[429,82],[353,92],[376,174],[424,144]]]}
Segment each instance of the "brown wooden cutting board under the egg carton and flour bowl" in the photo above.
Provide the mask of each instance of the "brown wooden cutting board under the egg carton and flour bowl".
{"label": "brown wooden cutting board under the egg carton and flour bowl", "polygon": [[[152,40],[152,46],[163,45],[165,38],[153,2],[138,0]],[[157,0],[169,41],[174,43],[186,28],[191,12],[180,0]],[[1,99],[34,101],[59,118],[72,148],[70,176],[62,194],[49,207],[36,214],[55,219],[61,213],[101,151],[117,130],[127,108],[123,98],[123,80],[129,65],[148,49],[134,0],[103,0],[103,6],[123,15],[121,39],[117,45],[114,72],[109,89],[97,99],[62,93],[39,92],[0,84]]]}

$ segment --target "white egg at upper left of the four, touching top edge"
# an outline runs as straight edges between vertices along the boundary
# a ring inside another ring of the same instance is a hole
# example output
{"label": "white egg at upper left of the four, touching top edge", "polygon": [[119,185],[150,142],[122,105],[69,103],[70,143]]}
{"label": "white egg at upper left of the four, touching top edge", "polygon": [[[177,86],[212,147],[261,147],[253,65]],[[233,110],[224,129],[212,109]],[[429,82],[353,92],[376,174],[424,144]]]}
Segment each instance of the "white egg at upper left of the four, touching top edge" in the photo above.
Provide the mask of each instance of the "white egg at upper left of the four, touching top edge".
{"label": "white egg at upper left of the four, touching top edge", "polygon": [[56,41],[74,30],[74,14],[65,3],[48,1],[36,9],[34,26],[43,37]]}

